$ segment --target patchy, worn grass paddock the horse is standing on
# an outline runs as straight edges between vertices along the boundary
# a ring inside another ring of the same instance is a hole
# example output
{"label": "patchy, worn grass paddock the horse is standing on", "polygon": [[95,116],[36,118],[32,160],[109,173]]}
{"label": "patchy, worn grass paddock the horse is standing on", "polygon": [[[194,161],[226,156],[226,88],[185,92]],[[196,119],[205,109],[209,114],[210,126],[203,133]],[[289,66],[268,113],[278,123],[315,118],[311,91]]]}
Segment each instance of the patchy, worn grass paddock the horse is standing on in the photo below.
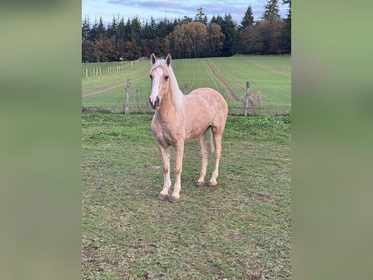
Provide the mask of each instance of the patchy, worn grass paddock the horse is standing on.
{"label": "patchy, worn grass paddock the horse is standing on", "polygon": [[186,142],[177,204],[151,118],[82,114],[82,279],[290,279],[291,116],[228,116],[216,187]]}

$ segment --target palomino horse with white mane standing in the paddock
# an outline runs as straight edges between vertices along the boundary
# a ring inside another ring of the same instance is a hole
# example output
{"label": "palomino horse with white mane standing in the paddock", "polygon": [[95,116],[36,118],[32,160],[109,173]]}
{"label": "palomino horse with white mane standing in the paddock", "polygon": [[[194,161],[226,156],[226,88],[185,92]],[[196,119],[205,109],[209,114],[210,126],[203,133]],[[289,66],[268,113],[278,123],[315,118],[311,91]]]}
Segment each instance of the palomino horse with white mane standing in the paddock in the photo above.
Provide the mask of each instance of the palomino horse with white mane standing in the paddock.
{"label": "palomino horse with white mane standing in the paddock", "polygon": [[198,138],[201,148],[201,174],[196,185],[205,183],[207,166],[206,132],[211,128],[211,149],[215,155],[214,171],[210,186],[217,184],[220,154],[222,151],[222,135],[228,115],[228,106],[224,98],[212,88],[198,88],[188,95],[183,95],[171,68],[171,56],[166,60],[150,57],[151,108],[155,109],[151,121],[151,131],[157,139],[157,145],[162,153],[164,187],[158,199],[168,197],[171,186],[169,177],[169,146],[175,147],[175,186],[170,202],[179,201],[181,189],[180,177],[183,164],[184,141]]}

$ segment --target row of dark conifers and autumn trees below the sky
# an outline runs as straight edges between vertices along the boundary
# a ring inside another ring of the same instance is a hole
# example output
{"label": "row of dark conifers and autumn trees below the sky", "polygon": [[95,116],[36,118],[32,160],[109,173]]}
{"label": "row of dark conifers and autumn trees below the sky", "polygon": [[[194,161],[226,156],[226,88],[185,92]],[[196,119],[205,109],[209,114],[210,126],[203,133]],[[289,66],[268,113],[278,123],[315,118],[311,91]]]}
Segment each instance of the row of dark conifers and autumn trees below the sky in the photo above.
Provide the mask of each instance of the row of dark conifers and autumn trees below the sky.
{"label": "row of dark conifers and autumn trees below the sky", "polygon": [[88,16],[82,20],[82,60],[89,62],[136,60],[171,53],[174,58],[222,57],[235,54],[290,54],[291,0],[287,18],[279,15],[278,0],[268,0],[261,19],[254,21],[251,5],[241,24],[230,13],[213,16],[208,21],[204,8],[197,9],[194,19],[184,17],[170,22],[140,21],[137,17],[126,22],[120,15],[107,27],[102,19],[92,23]]}

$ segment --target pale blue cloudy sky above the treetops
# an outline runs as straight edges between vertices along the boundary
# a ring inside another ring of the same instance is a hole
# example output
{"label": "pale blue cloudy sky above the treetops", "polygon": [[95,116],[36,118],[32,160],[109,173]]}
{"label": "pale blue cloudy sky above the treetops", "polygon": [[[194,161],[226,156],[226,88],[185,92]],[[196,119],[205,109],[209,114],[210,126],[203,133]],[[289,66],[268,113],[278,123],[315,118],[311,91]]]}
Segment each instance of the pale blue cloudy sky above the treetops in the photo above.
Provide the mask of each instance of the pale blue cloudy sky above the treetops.
{"label": "pale blue cloudy sky above the treetops", "polygon": [[[286,18],[288,5],[283,5],[282,0],[278,2],[280,16]],[[104,25],[107,25],[119,13],[119,17],[123,17],[125,21],[136,16],[140,21],[150,21],[152,16],[155,21],[163,20],[166,17],[173,22],[175,18],[182,19],[184,16],[194,19],[197,9],[202,7],[205,9],[208,21],[214,14],[224,17],[225,13],[231,13],[233,20],[240,24],[250,4],[254,20],[259,20],[266,3],[267,0],[82,0],[82,20],[85,16],[89,16],[91,22],[94,21],[94,18],[97,18],[98,21],[101,16]]]}

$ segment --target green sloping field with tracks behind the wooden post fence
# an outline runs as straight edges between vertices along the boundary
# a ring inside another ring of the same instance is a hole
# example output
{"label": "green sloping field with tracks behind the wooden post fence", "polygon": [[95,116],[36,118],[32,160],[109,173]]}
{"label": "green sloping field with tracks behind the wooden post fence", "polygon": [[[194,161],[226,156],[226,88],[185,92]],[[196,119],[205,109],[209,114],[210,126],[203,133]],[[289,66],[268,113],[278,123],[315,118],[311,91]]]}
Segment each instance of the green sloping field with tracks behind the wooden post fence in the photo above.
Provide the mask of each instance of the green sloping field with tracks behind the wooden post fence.
{"label": "green sloping field with tracks behind the wooden post fence", "polygon": [[[108,62],[105,63],[105,67],[111,63],[116,66],[128,62]],[[89,64],[94,64],[93,67],[101,65],[101,63],[82,63],[82,68]],[[243,107],[242,102],[234,101],[230,97],[224,84],[212,74],[208,65],[227,83],[239,99],[244,100],[245,90],[237,83],[245,87],[246,82],[249,81],[251,92],[261,95],[263,100],[261,105],[291,105],[290,56],[172,60],[172,68],[183,92],[186,83],[188,92],[199,87],[211,87],[224,96],[229,106]],[[82,78],[82,106],[122,108],[128,78],[131,79],[130,106],[147,106],[150,95],[149,70],[150,61],[145,60],[118,73]]]}

